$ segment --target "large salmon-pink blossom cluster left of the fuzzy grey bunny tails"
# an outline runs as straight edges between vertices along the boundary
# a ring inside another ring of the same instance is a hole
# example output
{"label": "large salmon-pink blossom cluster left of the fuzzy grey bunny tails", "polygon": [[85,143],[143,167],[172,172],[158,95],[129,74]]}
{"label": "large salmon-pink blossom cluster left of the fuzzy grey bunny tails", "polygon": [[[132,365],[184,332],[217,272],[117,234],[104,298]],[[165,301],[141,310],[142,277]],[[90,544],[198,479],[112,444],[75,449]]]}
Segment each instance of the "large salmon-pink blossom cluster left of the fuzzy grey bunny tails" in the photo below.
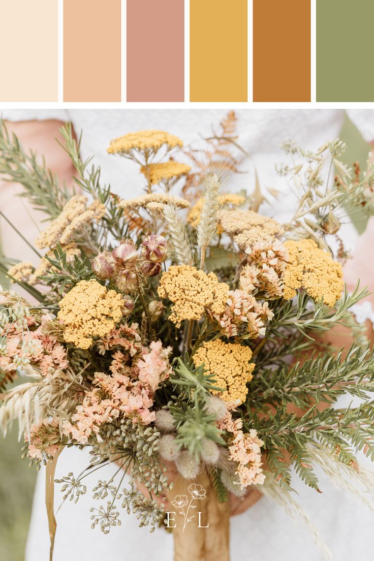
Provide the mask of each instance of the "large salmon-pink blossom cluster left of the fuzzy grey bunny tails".
{"label": "large salmon-pink blossom cluster left of the fuzzy grey bunny tails", "polygon": [[[112,341],[123,334],[122,330]],[[133,336],[131,329],[128,334]],[[123,346],[123,351],[113,354],[110,365],[112,375],[95,373],[95,388],[86,392],[71,421],[64,422],[64,434],[79,444],[87,444],[92,435],[96,435],[100,442],[101,426],[119,417],[142,425],[149,425],[155,420],[155,412],[150,408],[155,390],[170,375],[168,356],[171,348],[163,348],[160,341],[151,342],[150,347],[142,347],[140,358],[131,357],[134,351],[131,345]]]}

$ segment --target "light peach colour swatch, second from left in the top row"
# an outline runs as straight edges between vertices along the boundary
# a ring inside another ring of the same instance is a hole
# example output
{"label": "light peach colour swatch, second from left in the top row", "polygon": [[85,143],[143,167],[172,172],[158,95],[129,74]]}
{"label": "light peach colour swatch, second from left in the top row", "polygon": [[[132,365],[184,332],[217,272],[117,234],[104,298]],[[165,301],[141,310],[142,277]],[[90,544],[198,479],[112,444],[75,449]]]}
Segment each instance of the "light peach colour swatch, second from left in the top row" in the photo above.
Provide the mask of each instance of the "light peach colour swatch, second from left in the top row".
{"label": "light peach colour swatch, second from left in the top row", "polygon": [[64,0],[65,102],[121,101],[121,0]]}

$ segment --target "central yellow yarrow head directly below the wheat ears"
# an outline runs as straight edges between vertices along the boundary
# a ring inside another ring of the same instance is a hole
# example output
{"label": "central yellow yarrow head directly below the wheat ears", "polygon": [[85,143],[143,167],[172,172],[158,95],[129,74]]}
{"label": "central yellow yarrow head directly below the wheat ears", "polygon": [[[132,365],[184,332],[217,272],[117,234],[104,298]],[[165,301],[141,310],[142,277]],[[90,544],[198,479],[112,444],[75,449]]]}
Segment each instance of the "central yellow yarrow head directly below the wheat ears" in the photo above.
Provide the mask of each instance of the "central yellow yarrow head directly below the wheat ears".
{"label": "central yellow yarrow head directly below the wheat ears", "polygon": [[181,327],[185,319],[198,320],[209,308],[213,314],[225,309],[229,286],[214,273],[206,274],[189,265],[172,265],[160,279],[158,294],[173,302],[169,319]]}

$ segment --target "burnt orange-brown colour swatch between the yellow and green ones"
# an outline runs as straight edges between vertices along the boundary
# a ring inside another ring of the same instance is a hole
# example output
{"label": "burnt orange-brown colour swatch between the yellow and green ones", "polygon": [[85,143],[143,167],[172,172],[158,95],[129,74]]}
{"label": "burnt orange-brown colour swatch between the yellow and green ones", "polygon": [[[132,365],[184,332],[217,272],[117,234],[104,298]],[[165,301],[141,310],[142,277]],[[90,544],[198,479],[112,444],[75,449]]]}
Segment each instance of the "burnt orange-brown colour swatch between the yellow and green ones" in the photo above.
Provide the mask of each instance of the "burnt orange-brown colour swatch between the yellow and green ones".
{"label": "burnt orange-brown colour swatch between the yellow and green ones", "polygon": [[311,0],[253,0],[253,101],[310,100]]}

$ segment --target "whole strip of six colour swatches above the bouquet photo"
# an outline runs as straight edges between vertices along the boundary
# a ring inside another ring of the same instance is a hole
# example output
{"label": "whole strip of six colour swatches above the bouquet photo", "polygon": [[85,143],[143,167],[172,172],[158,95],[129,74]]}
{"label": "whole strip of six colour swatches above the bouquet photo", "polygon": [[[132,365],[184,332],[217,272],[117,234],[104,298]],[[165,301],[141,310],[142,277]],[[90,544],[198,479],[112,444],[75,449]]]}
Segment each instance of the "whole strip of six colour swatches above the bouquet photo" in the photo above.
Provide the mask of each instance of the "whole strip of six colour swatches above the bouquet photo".
{"label": "whole strip of six colour swatches above the bouquet photo", "polygon": [[252,3],[1,0],[0,103],[374,102],[374,2]]}

